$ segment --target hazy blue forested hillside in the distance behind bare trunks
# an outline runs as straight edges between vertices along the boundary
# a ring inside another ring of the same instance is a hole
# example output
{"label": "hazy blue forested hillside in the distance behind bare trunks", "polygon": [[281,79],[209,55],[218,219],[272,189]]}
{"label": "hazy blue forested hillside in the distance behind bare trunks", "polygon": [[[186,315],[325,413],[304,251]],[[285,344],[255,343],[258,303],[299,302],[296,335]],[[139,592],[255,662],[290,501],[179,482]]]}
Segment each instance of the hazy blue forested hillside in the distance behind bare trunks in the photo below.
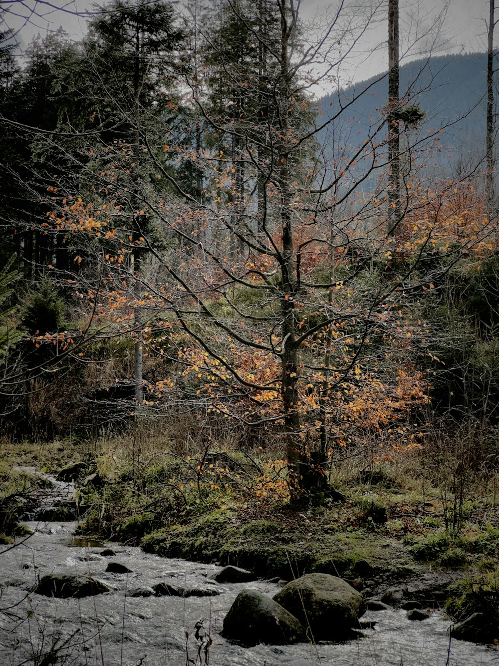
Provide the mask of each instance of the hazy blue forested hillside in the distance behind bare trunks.
{"label": "hazy blue forested hillside in the distance behind bare trunks", "polygon": [[[476,166],[484,156],[486,60],[485,53],[468,53],[421,59],[401,67],[401,97],[408,103],[418,103],[426,113],[419,136],[434,128],[444,129],[438,137],[440,151],[432,153],[432,166],[445,165],[446,175],[471,164]],[[353,147],[365,138],[369,127],[383,117],[387,88],[387,75],[381,74],[323,97],[319,101],[323,121],[333,117],[341,105],[353,102],[341,114],[341,120],[335,121],[334,140],[333,128],[321,133],[322,145],[328,150],[332,142]]]}

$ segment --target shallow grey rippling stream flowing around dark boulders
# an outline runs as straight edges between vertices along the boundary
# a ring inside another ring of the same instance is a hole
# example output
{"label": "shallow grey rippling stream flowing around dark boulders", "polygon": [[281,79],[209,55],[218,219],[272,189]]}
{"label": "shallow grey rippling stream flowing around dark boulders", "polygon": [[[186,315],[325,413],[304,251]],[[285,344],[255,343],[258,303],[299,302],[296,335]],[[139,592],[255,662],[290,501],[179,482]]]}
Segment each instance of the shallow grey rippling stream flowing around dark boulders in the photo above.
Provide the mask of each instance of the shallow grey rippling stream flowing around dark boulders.
{"label": "shallow grey rippling stream flowing around dark boulders", "polygon": [[[187,659],[203,664],[204,645],[195,636],[199,621],[212,638],[211,666],[499,666],[496,646],[449,645],[450,621],[440,611],[424,621],[410,621],[407,611],[398,609],[368,612],[362,619],[375,622],[375,629],[347,643],[241,647],[221,635],[232,602],[245,587],[273,595],[279,585],[265,580],[215,583],[210,576],[221,569],[216,565],[74,537],[72,522],[25,524],[33,535],[17,539],[15,547],[0,546],[1,666],[185,666]],[[105,547],[115,554],[101,555]],[[131,573],[106,571],[110,561]],[[111,591],[81,599],[30,592],[47,573],[91,573]],[[206,596],[132,596],[160,582]],[[57,661],[44,656],[51,651]]]}

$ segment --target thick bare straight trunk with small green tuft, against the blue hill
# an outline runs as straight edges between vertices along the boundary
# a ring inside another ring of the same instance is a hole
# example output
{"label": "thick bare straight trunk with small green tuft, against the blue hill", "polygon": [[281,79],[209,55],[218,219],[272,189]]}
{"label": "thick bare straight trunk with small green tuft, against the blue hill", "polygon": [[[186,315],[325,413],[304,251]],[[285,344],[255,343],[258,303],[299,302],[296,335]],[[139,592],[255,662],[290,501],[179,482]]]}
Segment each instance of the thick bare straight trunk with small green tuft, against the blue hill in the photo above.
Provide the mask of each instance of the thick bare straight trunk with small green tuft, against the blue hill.
{"label": "thick bare straight trunk with small green tuft, against the blue hill", "polygon": [[388,235],[400,222],[401,138],[399,128],[399,0],[388,1]]}

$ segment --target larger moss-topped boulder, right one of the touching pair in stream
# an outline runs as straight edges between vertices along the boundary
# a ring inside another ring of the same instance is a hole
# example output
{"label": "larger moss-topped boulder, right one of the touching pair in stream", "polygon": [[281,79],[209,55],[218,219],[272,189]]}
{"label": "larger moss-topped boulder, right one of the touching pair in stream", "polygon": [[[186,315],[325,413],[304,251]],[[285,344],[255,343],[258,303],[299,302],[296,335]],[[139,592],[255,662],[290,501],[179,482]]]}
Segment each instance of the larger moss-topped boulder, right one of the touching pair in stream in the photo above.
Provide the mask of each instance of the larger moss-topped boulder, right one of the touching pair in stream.
{"label": "larger moss-topped boulder, right one of the touching pair in stream", "polygon": [[309,627],[308,637],[314,641],[344,640],[359,626],[366,609],[357,590],[328,573],[307,573],[287,583],[273,599]]}

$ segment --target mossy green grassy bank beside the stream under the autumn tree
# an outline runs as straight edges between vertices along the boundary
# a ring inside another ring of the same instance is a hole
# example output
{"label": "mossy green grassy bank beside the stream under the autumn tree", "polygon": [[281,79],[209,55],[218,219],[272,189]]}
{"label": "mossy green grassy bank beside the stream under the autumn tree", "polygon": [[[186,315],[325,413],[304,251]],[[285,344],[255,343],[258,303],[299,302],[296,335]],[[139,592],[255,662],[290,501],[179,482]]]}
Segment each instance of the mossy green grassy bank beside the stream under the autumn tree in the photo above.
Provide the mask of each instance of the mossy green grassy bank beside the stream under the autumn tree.
{"label": "mossy green grassy bank beside the stream under the autumn tree", "polygon": [[[283,462],[273,452],[221,446],[178,452],[164,441],[147,447],[120,439],[9,444],[3,454],[4,498],[23,488],[16,466],[57,472],[85,460],[84,474],[98,472],[102,485],[79,488],[79,533],[159,555],[287,579],[313,571],[355,578],[359,559],[369,563],[368,577],[391,580],[430,568],[460,569],[463,576],[496,568],[493,498],[470,496],[461,503],[460,529],[446,529],[449,492],[417,477],[417,452],[369,474],[336,470],[332,480],[344,501],[301,510],[289,505]],[[11,527],[3,530],[7,537]]]}

